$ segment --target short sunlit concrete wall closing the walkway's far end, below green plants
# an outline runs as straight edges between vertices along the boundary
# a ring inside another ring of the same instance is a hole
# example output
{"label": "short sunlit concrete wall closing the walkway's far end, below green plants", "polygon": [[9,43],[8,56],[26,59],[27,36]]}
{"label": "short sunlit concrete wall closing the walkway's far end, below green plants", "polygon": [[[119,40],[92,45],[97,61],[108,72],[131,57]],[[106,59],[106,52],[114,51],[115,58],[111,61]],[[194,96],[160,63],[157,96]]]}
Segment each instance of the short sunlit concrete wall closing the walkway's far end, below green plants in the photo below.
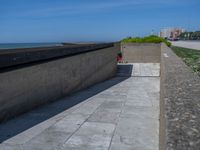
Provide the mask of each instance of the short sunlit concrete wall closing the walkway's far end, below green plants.
{"label": "short sunlit concrete wall closing the walkway's far end, below green plants", "polygon": [[128,63],[159,63],[160,44],[128,43],[122,44],[123,62]]}

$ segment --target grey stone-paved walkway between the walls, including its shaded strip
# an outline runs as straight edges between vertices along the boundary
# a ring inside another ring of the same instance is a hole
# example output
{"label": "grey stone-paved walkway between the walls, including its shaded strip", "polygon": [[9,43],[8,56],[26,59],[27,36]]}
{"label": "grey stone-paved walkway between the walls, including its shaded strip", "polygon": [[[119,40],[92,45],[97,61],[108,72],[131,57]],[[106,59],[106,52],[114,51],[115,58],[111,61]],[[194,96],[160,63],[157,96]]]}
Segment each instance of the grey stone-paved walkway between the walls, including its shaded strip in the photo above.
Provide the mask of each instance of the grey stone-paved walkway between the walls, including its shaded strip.
{"label": "grey stone-paved walkway between the walls, including its shaded strip", "polygon": [[159,64],[117,77],[0,125],[0,150],[158,150]]}

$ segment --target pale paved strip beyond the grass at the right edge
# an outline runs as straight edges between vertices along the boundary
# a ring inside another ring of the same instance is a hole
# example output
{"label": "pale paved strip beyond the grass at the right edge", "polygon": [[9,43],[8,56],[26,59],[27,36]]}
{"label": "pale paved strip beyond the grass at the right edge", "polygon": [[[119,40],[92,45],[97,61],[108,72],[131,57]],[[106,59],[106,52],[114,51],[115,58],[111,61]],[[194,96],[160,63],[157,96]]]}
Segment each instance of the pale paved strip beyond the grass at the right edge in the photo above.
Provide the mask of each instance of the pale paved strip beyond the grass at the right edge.
{"label": "pale paved strip beyond the grass at the right edge", "polygon": [[200,50],[200,41],[173,41],[172,45]]}

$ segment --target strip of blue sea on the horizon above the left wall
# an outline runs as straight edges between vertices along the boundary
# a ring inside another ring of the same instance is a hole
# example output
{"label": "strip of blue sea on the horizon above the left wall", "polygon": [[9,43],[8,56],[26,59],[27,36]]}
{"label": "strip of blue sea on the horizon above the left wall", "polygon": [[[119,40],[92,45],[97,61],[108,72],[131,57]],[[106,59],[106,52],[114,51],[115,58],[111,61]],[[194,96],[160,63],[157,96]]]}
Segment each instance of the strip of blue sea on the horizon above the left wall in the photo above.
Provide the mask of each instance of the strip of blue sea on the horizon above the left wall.
{"label": "strip of blue sea on the horizon above the left wall", "polygon": [[33,48],[33,47],[49,47],[49,46],[62,46],[62,44],[61,43],[0,43],[0,50]]}

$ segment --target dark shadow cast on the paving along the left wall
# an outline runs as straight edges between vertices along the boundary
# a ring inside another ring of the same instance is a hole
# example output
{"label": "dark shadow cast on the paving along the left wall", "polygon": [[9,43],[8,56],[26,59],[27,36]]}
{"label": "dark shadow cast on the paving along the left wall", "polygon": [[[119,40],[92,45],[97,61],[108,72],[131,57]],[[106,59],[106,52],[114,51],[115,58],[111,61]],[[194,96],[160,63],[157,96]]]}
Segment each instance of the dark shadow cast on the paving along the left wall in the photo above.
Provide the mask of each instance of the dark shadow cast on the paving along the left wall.
{"label": "dark shadow cast on the paving along the left wall", "polygon": [[128,79],[132,73],[132,65],[118,65],[115,77],[91,86],[80,92],[76,92],[61,100],[38,107],[21,116],[0,124],[0,143],[29,129],[33,126],[48,120],[49,118],[103,92],[104,90],[119,84]]}

